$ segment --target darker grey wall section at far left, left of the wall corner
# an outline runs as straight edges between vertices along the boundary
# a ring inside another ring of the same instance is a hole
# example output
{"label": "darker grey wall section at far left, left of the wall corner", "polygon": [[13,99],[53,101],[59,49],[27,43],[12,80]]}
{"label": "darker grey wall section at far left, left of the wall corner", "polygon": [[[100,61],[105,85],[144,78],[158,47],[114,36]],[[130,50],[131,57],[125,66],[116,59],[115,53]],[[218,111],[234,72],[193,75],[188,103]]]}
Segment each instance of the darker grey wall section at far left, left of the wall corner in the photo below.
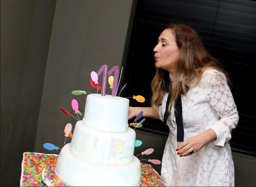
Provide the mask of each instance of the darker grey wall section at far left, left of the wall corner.
{"label": "darker grey wall section at far left, left of the wall corner", "polygon": [[[33,152],[56,0],[1,0],[1,186]],[[25,151],[24,151],[25,150]]]}

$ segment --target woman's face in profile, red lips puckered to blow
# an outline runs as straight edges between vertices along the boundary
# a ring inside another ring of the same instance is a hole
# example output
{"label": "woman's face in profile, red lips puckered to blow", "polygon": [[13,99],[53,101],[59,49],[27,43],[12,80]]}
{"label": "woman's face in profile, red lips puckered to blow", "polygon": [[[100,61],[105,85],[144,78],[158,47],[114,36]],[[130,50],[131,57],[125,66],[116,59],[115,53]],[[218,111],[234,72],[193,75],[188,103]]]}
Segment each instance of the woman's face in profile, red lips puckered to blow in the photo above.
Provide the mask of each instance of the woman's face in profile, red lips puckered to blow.
{"label": "woman's face in profile, red lips puckered to blow", "polygon": [[155,67],[173,73],[180,50],[171,29],[165,29],[158,37],[158,44],[155,46],[154,52]]}

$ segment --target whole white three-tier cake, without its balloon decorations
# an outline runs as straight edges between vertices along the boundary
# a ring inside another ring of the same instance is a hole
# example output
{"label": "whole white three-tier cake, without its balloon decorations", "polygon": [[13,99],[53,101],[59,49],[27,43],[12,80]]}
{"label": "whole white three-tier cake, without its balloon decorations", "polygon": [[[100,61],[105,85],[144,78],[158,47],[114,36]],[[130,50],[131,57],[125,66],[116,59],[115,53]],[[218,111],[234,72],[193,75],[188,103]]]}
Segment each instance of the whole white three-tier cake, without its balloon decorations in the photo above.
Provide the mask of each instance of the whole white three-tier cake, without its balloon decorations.
{"label": "whole white three-tier cake, without its balloon decorations", "polygon": [[88,95],[84,118],[59,154],[59,179],[68,186],[139,186],[141,163],[134,156],[136,135],[128,113],[126,98]]}

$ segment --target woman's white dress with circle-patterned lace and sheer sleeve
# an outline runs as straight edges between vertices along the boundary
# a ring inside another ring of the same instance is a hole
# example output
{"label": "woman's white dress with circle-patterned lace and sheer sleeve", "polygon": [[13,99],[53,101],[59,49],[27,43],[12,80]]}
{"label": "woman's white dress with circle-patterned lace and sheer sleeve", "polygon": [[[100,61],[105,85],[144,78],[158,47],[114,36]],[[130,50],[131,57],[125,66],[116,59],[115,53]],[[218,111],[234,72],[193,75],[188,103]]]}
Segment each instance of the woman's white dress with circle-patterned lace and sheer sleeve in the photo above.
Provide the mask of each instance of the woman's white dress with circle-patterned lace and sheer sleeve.
{"label": "woman's white dress with circle-patterned lace and sheer sleeve", "polygon": [[[168,93],[158,108],[162,121],[167,96]],[[170,134],[162,159],[162,179],[168,186],[235,186],[234,163],[228,141],[239,116],[224,74],[214,69],[206,70],[201,82],[190,88],[187,96],[181,95],[181,100],[184,141],[209,128],[214,130],[217,140],[190,156],[177,155],[176,148],[181,142],[177,142],[172,108],[167,120]]]}

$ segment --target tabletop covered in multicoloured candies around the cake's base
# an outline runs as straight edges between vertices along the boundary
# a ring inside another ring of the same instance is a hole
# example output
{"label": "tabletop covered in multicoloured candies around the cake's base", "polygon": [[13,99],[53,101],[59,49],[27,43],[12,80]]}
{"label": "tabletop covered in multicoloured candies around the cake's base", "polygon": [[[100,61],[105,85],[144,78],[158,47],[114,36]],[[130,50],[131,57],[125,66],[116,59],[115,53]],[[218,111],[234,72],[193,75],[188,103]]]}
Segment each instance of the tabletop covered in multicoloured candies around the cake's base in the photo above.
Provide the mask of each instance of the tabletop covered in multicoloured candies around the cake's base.
{"label": "tabletop covered in multicoloured candies around the cake's base", "polygon": [[[68,186],[58,179],[55,174],[57,159],[58,155],[54,154],[24,152],[20,186],[46,186],[45,183],[48,186]],[[97,180],[95,180],[95,186],[97,186]],[[113,184],[113,186],[115,185]],[[150,164],[141,163],[140,186],[166,186],[166,184]]]}

